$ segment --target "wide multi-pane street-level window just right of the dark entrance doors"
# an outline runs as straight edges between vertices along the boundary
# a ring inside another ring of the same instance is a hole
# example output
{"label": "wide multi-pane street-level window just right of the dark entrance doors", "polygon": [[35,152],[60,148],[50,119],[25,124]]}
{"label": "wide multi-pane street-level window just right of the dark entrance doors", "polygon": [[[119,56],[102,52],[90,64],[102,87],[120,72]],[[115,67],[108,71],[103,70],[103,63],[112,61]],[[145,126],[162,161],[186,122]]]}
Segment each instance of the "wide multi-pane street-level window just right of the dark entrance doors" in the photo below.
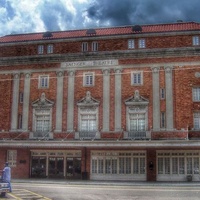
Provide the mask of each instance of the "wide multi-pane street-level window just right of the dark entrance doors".
{"label": "wide multi-pane street-level window just right of the dark entrance doors", "polygon": [[92,174],[145,175],[146,154],[139,152],[95,152],[91,158]]}

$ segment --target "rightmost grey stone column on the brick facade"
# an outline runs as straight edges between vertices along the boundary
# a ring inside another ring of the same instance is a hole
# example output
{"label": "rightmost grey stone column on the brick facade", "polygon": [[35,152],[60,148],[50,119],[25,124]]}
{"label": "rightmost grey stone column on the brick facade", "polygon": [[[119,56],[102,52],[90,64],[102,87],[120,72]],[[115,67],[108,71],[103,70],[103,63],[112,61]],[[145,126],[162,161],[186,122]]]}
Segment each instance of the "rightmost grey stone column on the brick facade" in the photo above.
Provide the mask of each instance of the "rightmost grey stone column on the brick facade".
{"label": "rightmost grey stone column on the brick facade", "polygon": [[166,129],[174,128],[173,116],[173,81],[172,81],[173,67],[165,67],[165,85],[166,85]]}

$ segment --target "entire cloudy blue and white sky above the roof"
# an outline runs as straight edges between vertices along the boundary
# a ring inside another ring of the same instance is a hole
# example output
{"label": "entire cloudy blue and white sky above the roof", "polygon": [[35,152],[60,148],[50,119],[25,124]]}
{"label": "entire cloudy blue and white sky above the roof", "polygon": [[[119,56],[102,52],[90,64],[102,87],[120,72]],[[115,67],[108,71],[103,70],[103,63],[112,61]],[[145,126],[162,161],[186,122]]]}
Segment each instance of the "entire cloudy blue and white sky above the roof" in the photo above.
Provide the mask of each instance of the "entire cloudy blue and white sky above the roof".
{"label": "entire cloudy blue and white sky above the roof", "polygon": [[0,36],[15,33],[200,22],[199,0],[0,0]]}

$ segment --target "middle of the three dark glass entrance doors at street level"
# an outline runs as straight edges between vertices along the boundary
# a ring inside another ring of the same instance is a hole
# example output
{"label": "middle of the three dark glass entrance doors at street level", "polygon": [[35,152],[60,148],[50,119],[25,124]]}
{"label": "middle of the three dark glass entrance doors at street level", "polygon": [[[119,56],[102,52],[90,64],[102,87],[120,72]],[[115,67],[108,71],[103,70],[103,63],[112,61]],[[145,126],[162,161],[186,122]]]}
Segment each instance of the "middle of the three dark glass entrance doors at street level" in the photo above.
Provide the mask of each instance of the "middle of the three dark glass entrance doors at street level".
{"label": "middle of the three dark glass entrance doors at street level", "polygon": [[49,177],[50,178],[64,177],[64,158],[63,157],[49,158]]}

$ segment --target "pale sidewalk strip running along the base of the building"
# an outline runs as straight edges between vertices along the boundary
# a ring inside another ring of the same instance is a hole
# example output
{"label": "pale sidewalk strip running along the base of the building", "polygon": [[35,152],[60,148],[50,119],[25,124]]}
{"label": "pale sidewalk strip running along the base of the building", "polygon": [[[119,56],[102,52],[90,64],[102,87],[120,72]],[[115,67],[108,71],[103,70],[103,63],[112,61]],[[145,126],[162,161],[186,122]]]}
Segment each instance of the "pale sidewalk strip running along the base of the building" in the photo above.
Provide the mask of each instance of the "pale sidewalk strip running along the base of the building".
{"label": "pale sidewalk strip running along the base of the building", "polygon": [[12,183],[66,184],[66,185],[105,185],[105,186],[200,186],[200,182],[146,182],[146,181],[93,181],[66,179],[12,179]]}

